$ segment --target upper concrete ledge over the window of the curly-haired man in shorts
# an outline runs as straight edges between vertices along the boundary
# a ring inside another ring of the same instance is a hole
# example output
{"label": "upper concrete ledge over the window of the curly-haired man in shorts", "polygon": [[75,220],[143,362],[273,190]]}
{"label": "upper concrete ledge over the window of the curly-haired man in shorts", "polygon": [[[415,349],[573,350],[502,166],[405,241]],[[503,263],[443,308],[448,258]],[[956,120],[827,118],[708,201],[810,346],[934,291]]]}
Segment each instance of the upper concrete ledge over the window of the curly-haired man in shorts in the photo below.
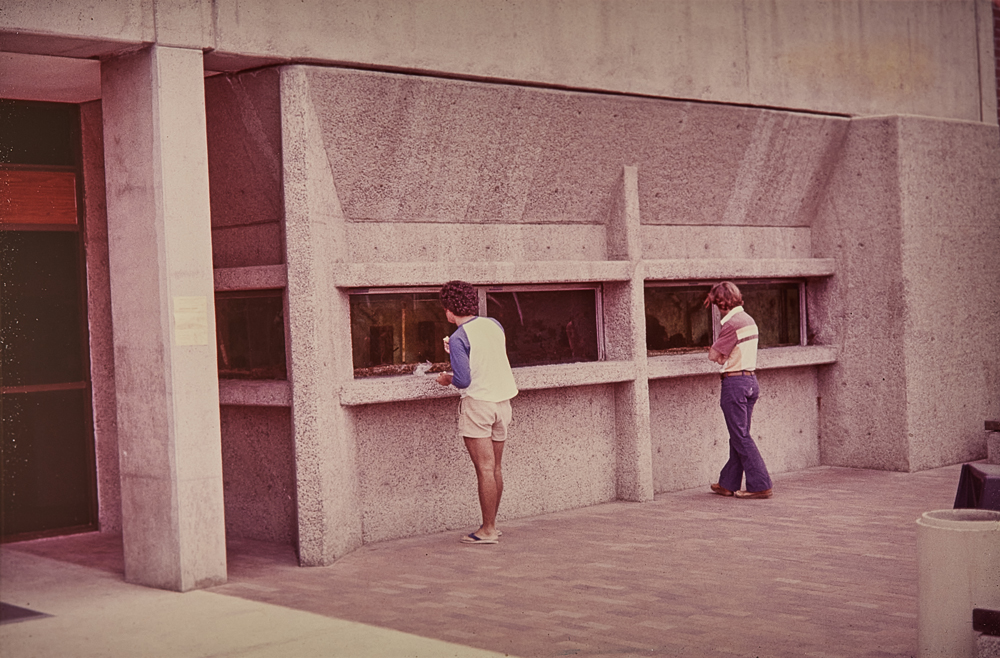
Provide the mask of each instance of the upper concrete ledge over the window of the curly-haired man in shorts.
{"label": "upper concrete ledge over the window of the curly-haired man in shorts", "polygon": [[338,288],[440,286],[453,279],[472,284],[628,281],[627,261],[520,261],[473,263],[347,263],[338,266]]}

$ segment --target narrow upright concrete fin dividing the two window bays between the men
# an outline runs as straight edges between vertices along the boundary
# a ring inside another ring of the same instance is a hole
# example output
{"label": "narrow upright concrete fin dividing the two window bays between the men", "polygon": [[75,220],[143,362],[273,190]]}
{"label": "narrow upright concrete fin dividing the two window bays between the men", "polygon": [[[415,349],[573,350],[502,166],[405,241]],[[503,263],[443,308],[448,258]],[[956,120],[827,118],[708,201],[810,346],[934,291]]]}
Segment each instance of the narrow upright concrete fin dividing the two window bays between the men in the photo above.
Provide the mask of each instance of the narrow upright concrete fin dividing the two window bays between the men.
{"label": "narrow upright concrete fin dividing the two window bays between the men", "polygon": [[623,169],[608,215],[608,258],[630,261],[632,278],[605,285],[604,324],[608,359],[635,363],[635,380],[615,384],[617,497],[644,501],[652,500],[654,492],[638,176],[635,167]]}

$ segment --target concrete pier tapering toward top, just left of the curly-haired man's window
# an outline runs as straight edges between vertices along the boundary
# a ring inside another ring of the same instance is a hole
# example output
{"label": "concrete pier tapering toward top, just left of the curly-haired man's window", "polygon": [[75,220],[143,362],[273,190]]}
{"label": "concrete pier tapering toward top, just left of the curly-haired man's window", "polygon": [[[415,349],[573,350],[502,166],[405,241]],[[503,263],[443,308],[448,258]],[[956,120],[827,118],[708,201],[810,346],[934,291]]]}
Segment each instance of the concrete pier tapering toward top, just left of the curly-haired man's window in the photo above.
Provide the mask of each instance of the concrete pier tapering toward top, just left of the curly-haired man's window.
{"label": "concrete pier tapering toward top, just left of the curly-haired man's window", "polygon": [[344,213],[302,67],[282,69],[281,120],[299,562],[322,566],[361,546],[361,505],[351,415],[338,397],[354,376],[350,304],[334,286]]}

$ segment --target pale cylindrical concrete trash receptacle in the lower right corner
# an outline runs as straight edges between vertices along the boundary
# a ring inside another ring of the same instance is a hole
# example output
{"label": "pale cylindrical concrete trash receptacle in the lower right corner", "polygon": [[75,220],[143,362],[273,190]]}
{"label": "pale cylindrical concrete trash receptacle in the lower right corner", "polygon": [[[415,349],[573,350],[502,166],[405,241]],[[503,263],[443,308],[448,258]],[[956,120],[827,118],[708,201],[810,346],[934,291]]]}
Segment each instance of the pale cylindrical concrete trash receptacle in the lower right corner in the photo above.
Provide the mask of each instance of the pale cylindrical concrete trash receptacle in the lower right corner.
{"label": "pale cylindrical concrete trash receptacle in the lower right corner", "polygon": [[973,608],[1000,608],[1000,512],[946,509],[917,519],[921,658],[975,658]]}

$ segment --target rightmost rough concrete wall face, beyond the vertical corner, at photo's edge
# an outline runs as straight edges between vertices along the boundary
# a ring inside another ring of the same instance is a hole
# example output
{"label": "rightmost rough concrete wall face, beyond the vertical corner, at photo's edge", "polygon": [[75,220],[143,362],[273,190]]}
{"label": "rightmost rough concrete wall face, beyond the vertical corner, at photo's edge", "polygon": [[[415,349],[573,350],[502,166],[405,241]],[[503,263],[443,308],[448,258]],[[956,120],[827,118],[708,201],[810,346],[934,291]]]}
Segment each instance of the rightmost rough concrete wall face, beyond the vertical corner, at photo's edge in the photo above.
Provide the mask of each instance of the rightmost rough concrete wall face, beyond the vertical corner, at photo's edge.
{"label": "rightmost rough concrete wall face, beyond the vertical corner, at photo's edge", "polygon": [[1000,140],[986,126],[901,117],[899,191],[910,468],[986,456],[1000,414]]}

